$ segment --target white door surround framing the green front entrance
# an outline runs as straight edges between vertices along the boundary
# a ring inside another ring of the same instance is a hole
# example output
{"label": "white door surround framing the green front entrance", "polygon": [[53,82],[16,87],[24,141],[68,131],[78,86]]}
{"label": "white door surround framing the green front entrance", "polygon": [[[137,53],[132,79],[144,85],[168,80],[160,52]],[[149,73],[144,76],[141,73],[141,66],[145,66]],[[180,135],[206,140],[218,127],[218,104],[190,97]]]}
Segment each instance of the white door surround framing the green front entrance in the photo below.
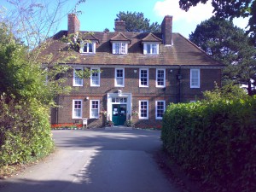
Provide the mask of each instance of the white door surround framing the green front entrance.
{"label": "white door surround framing the green front entrance", "polygon": [[[113,98],[117,97],[125,97],[127,99],[127,102],[112,102]],[[107,97],[107,112],[108,112],[108,118],[112,120],[112,106],[113,104],[126,104],[126,119],[129,119],[131,117],[131,108],[132,108],[132,95],[131,93],[108,93]]]}

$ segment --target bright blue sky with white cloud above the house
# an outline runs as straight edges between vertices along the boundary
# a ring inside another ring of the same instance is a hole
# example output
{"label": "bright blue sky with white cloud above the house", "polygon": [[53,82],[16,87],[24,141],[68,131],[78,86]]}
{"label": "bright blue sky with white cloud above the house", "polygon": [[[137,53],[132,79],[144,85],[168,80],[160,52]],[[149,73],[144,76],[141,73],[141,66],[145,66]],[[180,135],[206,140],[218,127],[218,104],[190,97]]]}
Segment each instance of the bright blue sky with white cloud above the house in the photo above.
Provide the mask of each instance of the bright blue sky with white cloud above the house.
{"label": "bright blue sky with white cloud above the house", "polygon": [[[20,0],[26,1],[26,0]],[[34,0],[35,1],[35,0]],[[36,0],[43,2],[45,0]],[[11,9],[6,0],[0,0],[7,10]],[[54,1],[51,1],[54,2]],[[74,6],[74,0],[68,0],[66,6],[61,10],[67,13]],[[55,5],[51,4],[50,9],[55,9]],[[114,19],[119,11],[143,12],[144,17],[152,22],[161,24],[165,15],[172,15],[172,32],[179,32],[184,37],[189,38],[189,34],[195,31],[197,25],[203,20],[207,20],[212,16],[211,2],[207,4],[198,4],[196,7],[190,8],[188,12],[179,8],[178,0],[86,0],[85,3],[79,4],[77,10],[81,11],[79,15],[80,30],[102,32],[108,28],[113,32]],[[245,28],[247,19],[234,20],[236,26]],[[67,16],[63,17],[57,27],[57,31],[67,30]]]}

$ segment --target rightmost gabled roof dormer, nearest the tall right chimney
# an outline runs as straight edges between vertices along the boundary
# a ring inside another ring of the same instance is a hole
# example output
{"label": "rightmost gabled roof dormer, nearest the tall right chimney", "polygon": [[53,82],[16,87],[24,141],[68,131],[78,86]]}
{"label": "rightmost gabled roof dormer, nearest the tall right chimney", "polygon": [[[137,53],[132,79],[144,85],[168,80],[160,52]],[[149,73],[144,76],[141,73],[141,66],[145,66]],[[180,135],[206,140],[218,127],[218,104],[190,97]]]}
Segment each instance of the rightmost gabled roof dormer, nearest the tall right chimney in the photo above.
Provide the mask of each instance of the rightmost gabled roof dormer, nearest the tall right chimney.
{"label": "rightmost gabled roof dormer, nearest the tall right chimney", "polygon": [[144,55],[159,55],[159,45],[162,39],[157,38],[153,33],[149,32],[148,35],[143,38],[143,54]]}

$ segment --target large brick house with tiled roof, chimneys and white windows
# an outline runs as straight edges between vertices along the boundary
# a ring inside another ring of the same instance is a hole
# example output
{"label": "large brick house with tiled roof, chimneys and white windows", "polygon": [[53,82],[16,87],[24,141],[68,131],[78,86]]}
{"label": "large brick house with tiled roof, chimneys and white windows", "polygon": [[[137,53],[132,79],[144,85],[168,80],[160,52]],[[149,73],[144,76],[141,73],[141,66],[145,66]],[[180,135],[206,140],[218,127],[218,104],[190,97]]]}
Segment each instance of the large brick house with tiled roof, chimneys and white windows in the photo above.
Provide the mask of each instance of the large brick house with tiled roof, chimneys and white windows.
{"label": "large brick house with tiled roof, chimneys and white windows", "polygon": [[[115,32],[88,33],[79,26],[78,17],[68,15],[68,30],[55,34],[44,51],[65,51],[67,43],[60,41],[63,35],[84,34],[79,49],[69,52],[76,59],[68,63],[73,75],[66,84],[77,89],[56,98],[62,108],[52,109],[53,124],[81,123],[88,118],[89,127],[102,127],[105,114],[114,125],[132,119],[137,127],[154,127],[161,124],[170,103],[198,100],[202,91],[214,88],[214,82],[221,83],[223,65],[173,33],[172,16],[164,18],[161,32],[125,32],[121,20],[115,21]],[[90,69],[90,79],[76,75],[84,68]]]}

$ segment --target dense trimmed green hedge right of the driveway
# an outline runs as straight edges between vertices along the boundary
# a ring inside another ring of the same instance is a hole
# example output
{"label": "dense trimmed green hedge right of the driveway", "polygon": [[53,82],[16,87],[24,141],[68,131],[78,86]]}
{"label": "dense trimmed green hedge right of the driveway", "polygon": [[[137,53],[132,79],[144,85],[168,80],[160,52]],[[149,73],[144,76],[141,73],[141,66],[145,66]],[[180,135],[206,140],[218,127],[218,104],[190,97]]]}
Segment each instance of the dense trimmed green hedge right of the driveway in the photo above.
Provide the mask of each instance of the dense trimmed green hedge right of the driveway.
{"label": "dense trimmed green hedge right of the driveway", "polygon": [[171,104],[161,139],[212,191],[256,191],[256,97]]}

